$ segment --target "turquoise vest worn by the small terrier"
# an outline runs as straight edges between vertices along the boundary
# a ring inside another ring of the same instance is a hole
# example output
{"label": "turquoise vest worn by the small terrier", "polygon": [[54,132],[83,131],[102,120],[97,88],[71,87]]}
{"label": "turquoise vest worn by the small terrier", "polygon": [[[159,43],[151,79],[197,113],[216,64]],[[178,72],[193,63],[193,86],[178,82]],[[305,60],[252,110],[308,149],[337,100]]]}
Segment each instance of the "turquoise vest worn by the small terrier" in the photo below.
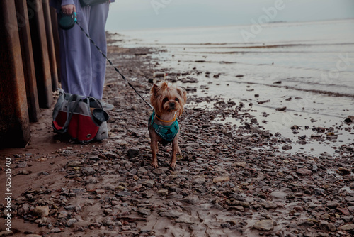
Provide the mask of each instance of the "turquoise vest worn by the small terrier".
{"label": "turquoise vest worn by the small terrier", "polygon": [[154,128],[157,135],[159,135],[159,137],[163,139],[160,143],[162,145],[168,145],[169,143],[172,143],[173,139],[176,137],[179,131],[177,119],[170,126],[163,126],[157,125],[154,122],[154,118],[155,111],[152,112],[152,115],[149,118],[149,124]]}

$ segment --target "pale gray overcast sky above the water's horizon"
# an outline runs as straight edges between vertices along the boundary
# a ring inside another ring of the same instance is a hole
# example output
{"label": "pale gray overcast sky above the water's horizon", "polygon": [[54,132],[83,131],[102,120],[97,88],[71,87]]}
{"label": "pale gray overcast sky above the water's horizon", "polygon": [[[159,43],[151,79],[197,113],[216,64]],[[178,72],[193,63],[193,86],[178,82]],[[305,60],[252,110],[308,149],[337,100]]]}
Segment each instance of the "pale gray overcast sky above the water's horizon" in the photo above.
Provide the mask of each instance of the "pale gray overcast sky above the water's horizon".
{"label": "pale gray overcast sky above the water's horizon", "polygon": [[246,25],[265,9],[271,21],[354,18],[354,0],[115,0],[106,30]]}

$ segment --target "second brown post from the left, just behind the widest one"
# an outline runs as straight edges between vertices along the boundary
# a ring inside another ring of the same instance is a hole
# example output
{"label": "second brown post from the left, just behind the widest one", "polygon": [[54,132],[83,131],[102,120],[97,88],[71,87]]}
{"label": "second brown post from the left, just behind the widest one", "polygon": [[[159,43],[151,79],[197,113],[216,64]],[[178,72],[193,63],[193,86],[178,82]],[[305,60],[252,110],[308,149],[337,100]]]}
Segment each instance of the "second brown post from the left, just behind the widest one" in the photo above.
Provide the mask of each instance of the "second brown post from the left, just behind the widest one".
{"label": "second brown post from the left, just behind the widest one", "polygon": [[37,82],[35,81],[35,64],[33,62],[32,40],[26,0],[16,0],[16,17],[20,37],[25,91],[27,94],[28,115],[30,122],[38,121],[40,106],[38,104]]}

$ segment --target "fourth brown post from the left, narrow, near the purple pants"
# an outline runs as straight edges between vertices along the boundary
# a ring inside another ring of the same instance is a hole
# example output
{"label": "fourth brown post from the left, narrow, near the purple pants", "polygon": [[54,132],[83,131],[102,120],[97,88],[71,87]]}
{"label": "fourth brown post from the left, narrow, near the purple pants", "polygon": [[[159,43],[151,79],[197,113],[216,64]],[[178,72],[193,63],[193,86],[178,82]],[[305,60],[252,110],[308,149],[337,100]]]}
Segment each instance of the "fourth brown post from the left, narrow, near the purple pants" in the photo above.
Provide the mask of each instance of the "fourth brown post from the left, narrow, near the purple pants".
{"label": "fourth brown post from the left, narrow, near the purple pants", "polygon": [[50,60],[50,72],[52,77],[52,91],[58,88],[57,59],[55,58],[55,48],[52,31],[52,18],[50,17],[49,0],[42,0],[43,13],[45,18],[45,31],[47,33],[48,55]]}

